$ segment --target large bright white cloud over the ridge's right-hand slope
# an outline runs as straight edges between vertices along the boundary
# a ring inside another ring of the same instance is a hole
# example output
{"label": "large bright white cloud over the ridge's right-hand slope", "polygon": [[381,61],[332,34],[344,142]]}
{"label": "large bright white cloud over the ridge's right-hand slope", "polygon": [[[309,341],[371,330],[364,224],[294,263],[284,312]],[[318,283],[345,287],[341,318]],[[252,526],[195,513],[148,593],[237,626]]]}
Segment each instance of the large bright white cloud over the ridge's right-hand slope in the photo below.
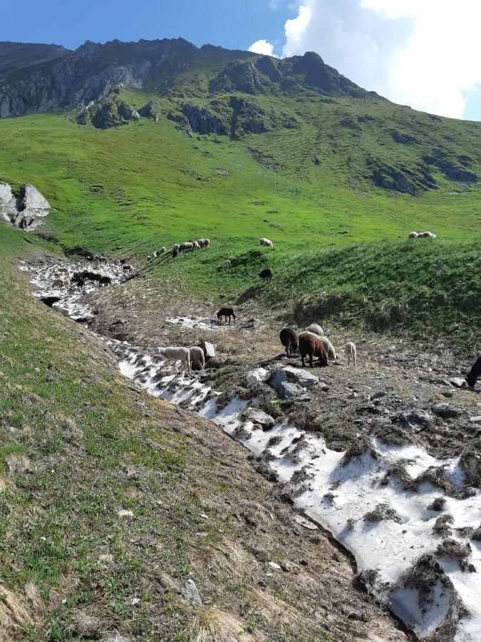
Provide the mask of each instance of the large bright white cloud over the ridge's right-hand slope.
{"label": "large bright white cloud over the ridge's right-hand slope", "polygon": [[284,56],[317,51],[399,103],[461,118],[481,83],[478,0],[300,0]]}

